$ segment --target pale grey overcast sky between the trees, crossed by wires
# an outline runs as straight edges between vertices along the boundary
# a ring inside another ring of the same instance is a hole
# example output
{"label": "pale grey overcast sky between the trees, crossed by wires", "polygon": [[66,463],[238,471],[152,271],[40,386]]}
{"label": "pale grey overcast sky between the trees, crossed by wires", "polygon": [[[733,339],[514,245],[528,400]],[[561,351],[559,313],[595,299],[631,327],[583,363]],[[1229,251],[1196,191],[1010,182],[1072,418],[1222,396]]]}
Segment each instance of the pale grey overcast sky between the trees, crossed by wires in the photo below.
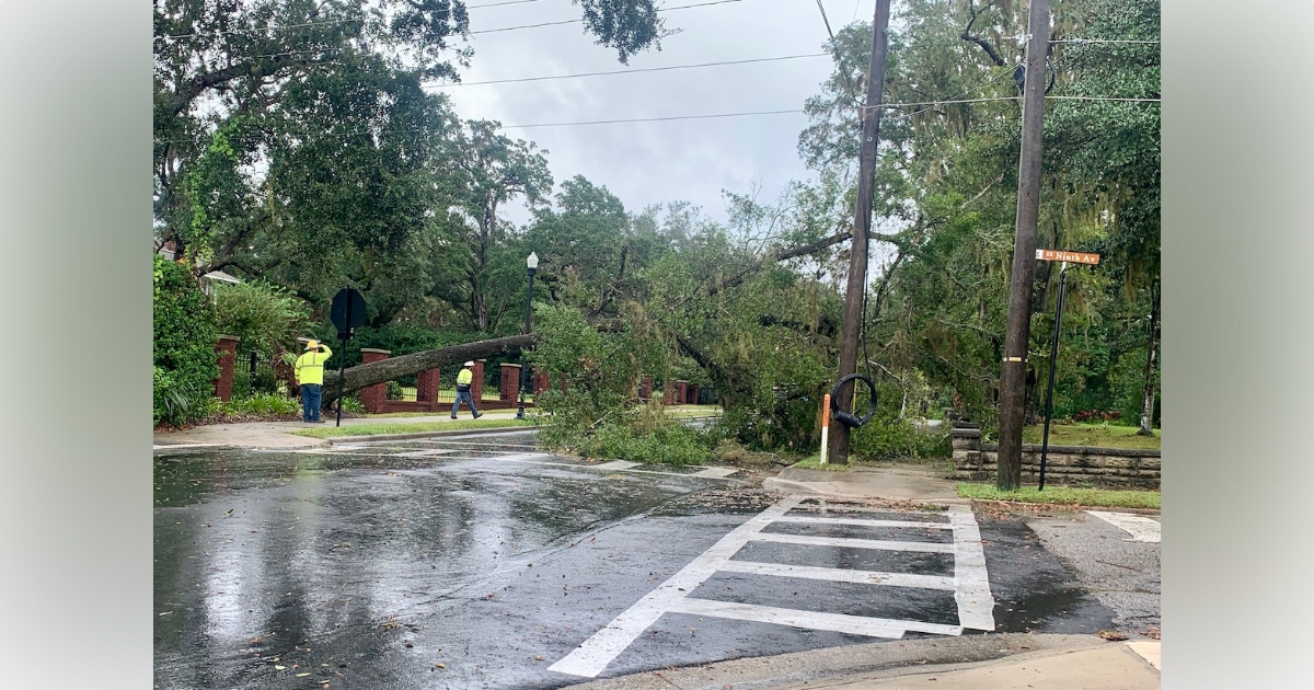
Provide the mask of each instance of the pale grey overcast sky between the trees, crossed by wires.
{"label": "pale grey overcast sky between the trees, crossed by wires", "polygon": [[[470,0],[470,30],[578,20],[570,0],[532,0],[478,8],[505,0]],[[706,0],[665,0],[678,7]],[[833,30],[854,18],[871,21],[875,0],[823,0]],[[629,68],[817,54],[825,24],[816,0],[737,0],[664,12],[677,35],[629,59]],[[616,51],[595,45],[582,24],[545,26],[470,37],[474,58],[463,81],[569,75],[623,70]],[[460,85],[451,95],[466,120],[502,122],[506,134],[547,149],[560,185],[583,175],[607,187],[632,212],[649,204],[691,201],[712,218],[724,218],[721,189],[746,193],[754,183],[759,200],[774,201],[790,180],[811,172],[798,156],[802,113],[720,120],[683,120],[587,126],[519,129],[514,125],[579,122],[754,110],[798,110],[830,74],[828,58],[802,58],[627,75],[589,76],[512,84]],[[507,218],[528,214],[516,205]]]}

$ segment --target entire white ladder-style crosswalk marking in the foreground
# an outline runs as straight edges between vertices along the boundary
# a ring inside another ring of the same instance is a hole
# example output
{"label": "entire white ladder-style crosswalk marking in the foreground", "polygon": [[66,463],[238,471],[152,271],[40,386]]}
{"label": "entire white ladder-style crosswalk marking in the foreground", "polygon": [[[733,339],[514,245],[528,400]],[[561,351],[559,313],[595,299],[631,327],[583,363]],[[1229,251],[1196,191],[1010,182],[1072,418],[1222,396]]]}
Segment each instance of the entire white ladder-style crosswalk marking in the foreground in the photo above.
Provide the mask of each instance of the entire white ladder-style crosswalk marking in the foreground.
{"label": "entire white ladder-style crosswalk marking in the foreground", "polygon": [[[907,632],[933,635],[962,635],[964,628],[993,631],[995,599],[989,591],[989,578],[986,572],[986,553],[982,547],[980,530],[970,509],[953,506],[947,522],[934,522],[946,514],[915,514],[922,520],[884,520],[849,517],[816,517],[815,514],[794,514],[803,497],[790,495],[779,503],[763,510],[744,524],[723,536],[720,541],[690,561],[678,573],[657,589],[639,599],[633,606],[618,615],[548,670],[594,678],[622,652],[637,640],[645,630],[664,614],[692,614],[753,623],[771,623],[804,630],[845,632],[870,637],[900,639]],[[813,506],[804,506],[809,509]],[[846,513],[888,513],[878,509],[854,509],[846,506]],[[903,541],[875,539],[841,539],[811,535],[763,532],[773,523],[811,523],[820,526],[846,524],[855,527],[920,527],[950,530],[953,543]],[[769,541],[804,545],[827,545],[882,551],[911,551],[951,553],[954,556],[954,576],[921,573],[884,573],[849,568],[820,568],[808,565],[786,565],[732,560],[749,543]],[[782,609],[754,603],[737,603],[690,597],[699,585],[717,572],[746,573],[756,576],[799,577],[827,582],[851,582],[894,587],[921,587],[953,591],[958,609],[957,626],[930,623],[924,620],[901,620],[890,618],[859,616],[848,614]]]}

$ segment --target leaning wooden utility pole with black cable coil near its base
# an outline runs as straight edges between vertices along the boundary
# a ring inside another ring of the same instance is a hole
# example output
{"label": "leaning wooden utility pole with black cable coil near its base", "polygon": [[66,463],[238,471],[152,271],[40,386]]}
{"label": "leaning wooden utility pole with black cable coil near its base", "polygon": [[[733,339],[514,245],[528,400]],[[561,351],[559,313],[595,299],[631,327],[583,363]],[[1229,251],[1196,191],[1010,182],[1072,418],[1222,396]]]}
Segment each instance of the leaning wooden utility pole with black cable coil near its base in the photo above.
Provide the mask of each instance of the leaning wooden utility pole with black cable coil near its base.
{"label": "leaning wooden utility pole with black cable coil near its base", "polygon": [[[867,234],[871,230],[871,187],[876,170],[876,139],[880,138],[880,100],[886,83],[886,33],[890,26],[890,0],[876,0],[871,20],[871,62],[867,64],[867,100],[862,109],[862,150],[858,155],[858,204],[853,213],[853,243],[849,250],[849,283],[844,298],[844,327],[840,335],[840,375],[836,381],[858,371],[858,331],[865,314],[867,290]],[[838,392],[836,405],[853,411],[853,381]],[[849,461],[849,427],[836,425],[830,435],[830,461]]]}

